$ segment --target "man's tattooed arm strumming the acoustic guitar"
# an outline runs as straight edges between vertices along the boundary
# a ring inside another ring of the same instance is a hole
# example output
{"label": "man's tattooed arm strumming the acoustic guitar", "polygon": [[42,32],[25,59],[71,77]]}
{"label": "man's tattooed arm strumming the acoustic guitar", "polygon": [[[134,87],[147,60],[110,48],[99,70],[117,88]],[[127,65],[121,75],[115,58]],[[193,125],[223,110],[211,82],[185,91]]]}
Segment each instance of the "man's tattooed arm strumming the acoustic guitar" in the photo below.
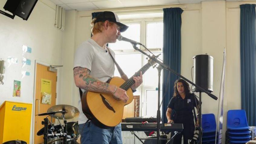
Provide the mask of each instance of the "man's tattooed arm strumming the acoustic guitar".
{"label": "man's tattooed arm strumming the acoustic guitar", "polygon": [[90,75],[90,70],[82,67],[75,67],[73,69],[75,84],[79,88],[83,88],[87,91],[102,92],[107,94],[113,94],[115,98],[121,99],[126,102],[129,97],[126,91],[110,85],[106,82],[101,82]]}

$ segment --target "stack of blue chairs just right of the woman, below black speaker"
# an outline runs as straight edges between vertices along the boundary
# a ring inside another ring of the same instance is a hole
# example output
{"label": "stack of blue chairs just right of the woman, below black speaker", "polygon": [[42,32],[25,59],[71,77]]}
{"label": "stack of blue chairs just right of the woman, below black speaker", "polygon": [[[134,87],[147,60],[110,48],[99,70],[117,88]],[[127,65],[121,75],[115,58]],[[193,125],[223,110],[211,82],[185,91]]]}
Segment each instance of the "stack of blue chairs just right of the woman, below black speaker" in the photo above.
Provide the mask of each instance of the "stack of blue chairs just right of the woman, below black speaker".
{"label": "stack of blue chairs just right of the woman, below black speaker", "polygon": [[214,114],[202,114],[202,128],[202,144],[215,144],[216,121]]}

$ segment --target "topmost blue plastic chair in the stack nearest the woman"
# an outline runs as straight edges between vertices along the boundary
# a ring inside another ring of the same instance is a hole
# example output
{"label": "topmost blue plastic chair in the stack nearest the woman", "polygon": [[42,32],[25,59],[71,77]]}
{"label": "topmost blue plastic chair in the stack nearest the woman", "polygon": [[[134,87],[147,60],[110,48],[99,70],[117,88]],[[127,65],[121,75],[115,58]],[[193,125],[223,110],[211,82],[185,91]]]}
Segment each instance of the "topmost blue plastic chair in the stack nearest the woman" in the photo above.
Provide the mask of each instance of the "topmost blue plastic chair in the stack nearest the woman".
{"label": "topmost blue plastic chair in the stack nearest the woman", "polygon": [[203,133],[212,133],[216,131],[216,121],[214,114],[202,114]]}

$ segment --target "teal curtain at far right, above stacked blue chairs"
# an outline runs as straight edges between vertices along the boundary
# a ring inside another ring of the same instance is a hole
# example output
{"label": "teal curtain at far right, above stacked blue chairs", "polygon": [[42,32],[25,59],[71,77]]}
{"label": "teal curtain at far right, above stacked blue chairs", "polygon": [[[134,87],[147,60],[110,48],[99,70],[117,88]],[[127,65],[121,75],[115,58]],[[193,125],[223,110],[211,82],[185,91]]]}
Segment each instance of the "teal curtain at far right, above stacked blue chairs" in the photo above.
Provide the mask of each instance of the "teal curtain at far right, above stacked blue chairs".
{"label": "teal curtain at far right, above stacked blue chairs", "polygon": [[255,5],[240,5],[241,106],[256,126]]}

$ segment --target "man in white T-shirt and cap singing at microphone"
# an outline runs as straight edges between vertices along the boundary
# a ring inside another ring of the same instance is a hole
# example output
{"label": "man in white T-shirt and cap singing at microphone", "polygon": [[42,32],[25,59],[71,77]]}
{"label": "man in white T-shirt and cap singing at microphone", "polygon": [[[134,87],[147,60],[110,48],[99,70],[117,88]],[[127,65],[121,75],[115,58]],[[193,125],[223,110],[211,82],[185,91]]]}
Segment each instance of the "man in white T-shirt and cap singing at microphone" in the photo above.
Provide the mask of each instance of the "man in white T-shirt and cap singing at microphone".
{"label": "man in white T-shirt and cap singing at microphone", "polygon": [[[106,83],[114,76],[115,64],[112,56],[115,53],[107,49],[107,43],[115,43],[118,35],[125,31],[128,26],[120,23],[118,16],[111,11],[104,11],[92,20],[93,36],[83,42],[76,50],[73,73],[75,84],[81,88],[82,92],[94,91],[112,94],[114,98],[122,100],[124,103],[129,97],[126,91],[115,85]],[[134,84],[131,86],[133,91],[142,83],[142,72],[139,76],[133,77]],[[94,125],[82,113],[82,104],[78,101],[79,131],[81,133],[82,144],[121,144],[121,125],[118,124],[110,129],[102,129]]]}

